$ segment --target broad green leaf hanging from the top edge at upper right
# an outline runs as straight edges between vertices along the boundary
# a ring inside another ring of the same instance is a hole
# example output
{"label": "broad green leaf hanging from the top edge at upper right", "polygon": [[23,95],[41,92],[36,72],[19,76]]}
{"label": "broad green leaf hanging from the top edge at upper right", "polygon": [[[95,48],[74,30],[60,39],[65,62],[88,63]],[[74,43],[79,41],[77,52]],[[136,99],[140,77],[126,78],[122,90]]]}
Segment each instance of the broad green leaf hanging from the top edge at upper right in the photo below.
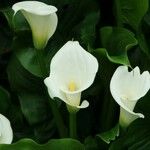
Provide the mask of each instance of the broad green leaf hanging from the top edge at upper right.
{"label": "broad green leaf hanging from the top edge at upper right", "polygon": [[149,7],[149,0],[115,0],[118,25],[128,24],[138,30]]}

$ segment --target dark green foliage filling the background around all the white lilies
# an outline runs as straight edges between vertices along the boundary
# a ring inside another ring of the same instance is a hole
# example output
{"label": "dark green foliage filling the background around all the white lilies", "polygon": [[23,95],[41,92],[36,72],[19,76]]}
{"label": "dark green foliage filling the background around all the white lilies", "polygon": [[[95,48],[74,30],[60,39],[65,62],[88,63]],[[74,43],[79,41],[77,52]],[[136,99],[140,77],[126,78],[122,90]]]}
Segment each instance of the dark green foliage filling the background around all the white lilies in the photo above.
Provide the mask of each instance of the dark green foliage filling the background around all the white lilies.
{"label": "dark green foliage filling the background around all the white lilies", "polygon": [[[58,139],[60,137],[33,48],[31,29],[20,12],[13,16],[11,6],[17,1],[2,0],[0,113],[10,120],[14,141],[11,145],[0,144],[0,149],[149,150],[150,92],[135,108],[136,112],[145,115],[145,119],[134,121],[122,132],[118,126],[119,107],[109,89],[113,72],[119,65],[139,66],[142,71],[150,71],[149,1],[40,1],[58,8],[57,30],[43,52],[47,72],[52,57],[68,40],[79,41],[98,59],[96,79],[82,93],[82,99],[88,100],[90,106],[77,114],[78,140]],[[68,128],[66,107],[59,100],[55,102]],[[118,132],[121,133],[119,136]],[[56,140],[50,140],[54,138]]]}

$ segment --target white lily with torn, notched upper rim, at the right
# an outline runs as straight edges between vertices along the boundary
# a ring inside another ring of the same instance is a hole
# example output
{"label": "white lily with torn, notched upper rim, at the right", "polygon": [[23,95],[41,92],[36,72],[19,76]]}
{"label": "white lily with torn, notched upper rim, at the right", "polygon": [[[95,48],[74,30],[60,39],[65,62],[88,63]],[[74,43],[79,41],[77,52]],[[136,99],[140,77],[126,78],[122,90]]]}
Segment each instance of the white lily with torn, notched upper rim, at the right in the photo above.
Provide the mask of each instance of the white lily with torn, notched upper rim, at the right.
{"label": "white lily with torn, notched upper rim, at the right", "polygon": [[144,118],[141,113],[133,112],[137,101],[150,89],[150,74],[144,71],[140,74],[139,67],[131,72],[127,66],[116,69],[110,82],[110,91],[115,101],[120,105],[120,125],[127,127],[137,118]]}

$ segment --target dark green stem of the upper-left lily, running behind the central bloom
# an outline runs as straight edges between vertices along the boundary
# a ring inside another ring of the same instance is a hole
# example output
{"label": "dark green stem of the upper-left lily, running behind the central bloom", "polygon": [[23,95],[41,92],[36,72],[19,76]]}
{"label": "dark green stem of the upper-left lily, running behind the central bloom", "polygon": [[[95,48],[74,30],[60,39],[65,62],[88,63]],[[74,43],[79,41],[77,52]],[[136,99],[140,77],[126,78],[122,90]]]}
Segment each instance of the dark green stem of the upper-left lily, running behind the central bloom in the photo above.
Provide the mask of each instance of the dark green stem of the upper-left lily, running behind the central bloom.
{"label": "dark green stem of the upper-left lily, running behind the central bloom", "polygon": [[[45,79],[48,76],[48,71],[46,69],[46,63],[44,61],[45,59],[44,59],[44,54],[43,53],[44,53],[43,50],[37,50],[36,49],[37,61],[38,61],[39,66],[40,66],[42,77],[43,77],[43,79]],[[66,127],[64,125],[62,116],[60,115],[60,112],[59,112],[59,110],[56,106],[56,103],[52,99],[49,98],[48,93],[47,93],[47,97],[48,97],[48,100],[49,100],[49,104],[50,104],[50,107],[51,107],[52,114],[53,114],[55,122],[56,122],[56,126],[58,128],[59,135],[62,138],[66,137],[67,136]]]}

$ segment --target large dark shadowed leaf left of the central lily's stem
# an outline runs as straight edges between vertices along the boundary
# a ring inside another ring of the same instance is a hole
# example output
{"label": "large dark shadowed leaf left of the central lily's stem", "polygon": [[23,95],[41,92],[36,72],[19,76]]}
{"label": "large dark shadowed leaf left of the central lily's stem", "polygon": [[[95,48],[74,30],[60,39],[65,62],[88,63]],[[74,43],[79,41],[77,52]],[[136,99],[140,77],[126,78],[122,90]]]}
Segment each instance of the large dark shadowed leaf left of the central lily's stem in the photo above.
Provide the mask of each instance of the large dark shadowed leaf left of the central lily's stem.
{"label": "large dark shadowed leaf left of the central lily's stem", "polygon": [[7,70],[11,87],[19,96],[22,112],[28,122],[37,124],[47,120],[51,112],[43,81],[27,72],[15,56]]}

